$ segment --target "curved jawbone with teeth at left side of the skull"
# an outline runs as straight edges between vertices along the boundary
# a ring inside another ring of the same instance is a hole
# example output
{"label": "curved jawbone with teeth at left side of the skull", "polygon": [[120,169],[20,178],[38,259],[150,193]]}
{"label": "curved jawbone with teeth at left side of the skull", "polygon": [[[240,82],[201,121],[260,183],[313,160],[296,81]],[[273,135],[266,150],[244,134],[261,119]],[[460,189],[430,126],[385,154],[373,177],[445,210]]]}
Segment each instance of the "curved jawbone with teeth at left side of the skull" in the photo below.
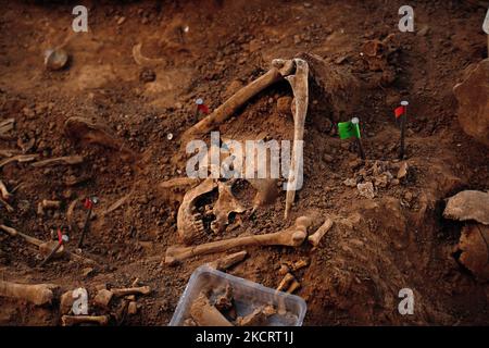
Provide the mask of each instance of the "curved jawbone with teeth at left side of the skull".
{"label": "curved jawbone with teeth at left side of the skull", "polygon": [[200,196],[211,192],[216,186],[214,179],[209,177],[185,194],[177,214],[178,236],[185,245],[192,244],[197,237],[203,234],[202,221],[195,216],[196,201]]}

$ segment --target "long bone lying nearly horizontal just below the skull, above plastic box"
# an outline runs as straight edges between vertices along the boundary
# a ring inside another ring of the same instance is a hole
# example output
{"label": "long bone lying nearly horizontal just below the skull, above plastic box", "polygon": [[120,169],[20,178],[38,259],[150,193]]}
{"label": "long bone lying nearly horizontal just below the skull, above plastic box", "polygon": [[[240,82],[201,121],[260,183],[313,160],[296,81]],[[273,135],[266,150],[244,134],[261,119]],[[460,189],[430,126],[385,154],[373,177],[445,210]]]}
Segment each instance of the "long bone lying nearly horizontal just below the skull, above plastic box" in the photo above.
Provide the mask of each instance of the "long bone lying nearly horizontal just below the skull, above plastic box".
{"label": "long bone lying nearly horizontal just below the skull, above plastic box", "polygon": [[296,220],[294,225],[277,233],[237,237],[231,239],[212,241],[195,247],[170,247],[166,250],[165,263],[175,263],[195,256],[213,252],[223,252],[237,247],[247,246],[300,246],[306,235],[308,227],[312,221],[308,216],[301,216]]}

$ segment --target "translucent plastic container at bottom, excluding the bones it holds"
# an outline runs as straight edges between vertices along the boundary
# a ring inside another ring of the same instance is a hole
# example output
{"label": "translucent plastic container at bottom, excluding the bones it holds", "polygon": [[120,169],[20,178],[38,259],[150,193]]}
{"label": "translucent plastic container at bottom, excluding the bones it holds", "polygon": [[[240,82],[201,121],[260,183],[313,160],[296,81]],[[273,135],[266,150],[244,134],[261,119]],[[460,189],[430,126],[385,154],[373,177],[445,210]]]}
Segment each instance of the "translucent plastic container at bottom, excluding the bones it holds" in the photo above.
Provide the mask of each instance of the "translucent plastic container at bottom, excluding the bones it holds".
{"label": "translucent plastic container at bottom, excluding the bones it holds", "polygon": [[268,318],[268,326],[302,325],[306,304],[299,296],[277,291],[261,284],[211,269],[208,265],[198,268],[190,276],[168,325],[184,325],[184,321],[190,318],[189,312],[192,302],[202,290],[222,288],[227,284],[233,287],[234,304],[238,316],[244,316],[260,306],[272,304],[277,313]]}

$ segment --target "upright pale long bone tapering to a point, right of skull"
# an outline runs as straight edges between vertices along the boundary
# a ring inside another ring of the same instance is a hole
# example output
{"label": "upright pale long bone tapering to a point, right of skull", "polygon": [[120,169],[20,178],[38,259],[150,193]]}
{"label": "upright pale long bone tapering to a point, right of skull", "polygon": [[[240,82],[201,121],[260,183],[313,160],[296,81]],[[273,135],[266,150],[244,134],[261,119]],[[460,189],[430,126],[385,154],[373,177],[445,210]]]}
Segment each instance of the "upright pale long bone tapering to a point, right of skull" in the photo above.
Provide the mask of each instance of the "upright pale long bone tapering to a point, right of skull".
{"label": "upright pale long bone tapering to a point, right of skull", "polygon": [[[299,171],[302,171],[302,146],[299,141],[304,138],[305,115],[308,114],[309,103],[309,64],[302,59],[294,59],[296,74],[286,76],[293,91],[294,103],[292,104],[293,114],[293,145],[292,145],[292,160],[289,169],[289,176],[287,179],[287,196],[285,219],[288,217],[290,209],[292,208],[293,199],[296,197],[296,189],[298,184]],[[290,187],[291,186],[291,187]]]}

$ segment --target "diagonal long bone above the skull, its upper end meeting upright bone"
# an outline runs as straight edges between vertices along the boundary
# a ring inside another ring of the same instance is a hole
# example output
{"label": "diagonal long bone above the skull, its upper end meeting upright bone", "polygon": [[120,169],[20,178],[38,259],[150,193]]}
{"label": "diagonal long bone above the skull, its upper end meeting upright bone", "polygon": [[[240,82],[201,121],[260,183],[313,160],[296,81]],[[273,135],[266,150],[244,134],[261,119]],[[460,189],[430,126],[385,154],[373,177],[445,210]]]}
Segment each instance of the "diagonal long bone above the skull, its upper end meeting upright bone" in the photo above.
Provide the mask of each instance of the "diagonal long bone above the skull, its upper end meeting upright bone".
{"label": "diagonal long bone above the skull, its upper end meeting upright bone", "polygon": [[260,76],[246,87],[238,90],[229,99],[227,99],[221,107],[215,109],[209,116],[202,119],[192,127],[187,129],[181,136],[181,147],[185,148],[189,140],[199,138],[202,135],[214,129],[217,125],[229,119],[236,111],[239,110],[248,100],[256,96],[265,88],[281,80],[285,76],[293,72],[293,61],[275,59],[272,61],[272,69],[264,75]]}

